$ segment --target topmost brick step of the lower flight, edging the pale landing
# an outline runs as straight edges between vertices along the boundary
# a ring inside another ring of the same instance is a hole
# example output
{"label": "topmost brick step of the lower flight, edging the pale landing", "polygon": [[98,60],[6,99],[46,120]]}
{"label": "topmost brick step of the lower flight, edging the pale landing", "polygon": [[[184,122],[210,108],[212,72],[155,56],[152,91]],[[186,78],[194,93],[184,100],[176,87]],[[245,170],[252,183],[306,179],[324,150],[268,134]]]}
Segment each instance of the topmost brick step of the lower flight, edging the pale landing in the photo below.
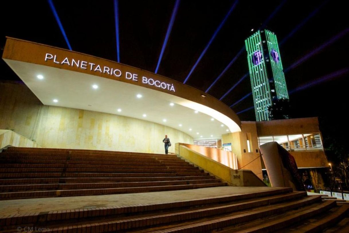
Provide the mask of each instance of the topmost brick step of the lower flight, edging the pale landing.
{"label": "topmost brick step of the lower flight, edging the pale landing", "polygon": [[[190,199],[185,201],[169,201],[155,204],[135,204],[123,206],[96,207],[92,209],[74,209],[33,213],[30,218],[29,213],[21,214],[20,216],[1,216],[0,226],[6,226],[9,229],[11,226],[21,224],[39,225],[40,223],[55,224],[57,221],[69,222],[86,221],[88,219],[98,219],[106,217],[125,217],[131,215],[157,213],[159,211],[179,211],[194,209],[200,207],[222,207],[222,205],[232,205],[229,208],[232,210],[248,209],[260,204],[268,205],[272,203],[282,202],[284,200],[292,200],[306,197],[306,192],[292,192],[291,188],[272,189],[259,192],[250,192],[243,194],[234,194],[227,196],[216,196],[207,198]],[[97,220],[96,219],[96,220]],[[64,222],[63,222],[64,224]],[[0,228],[0,230],[3,230]]]}

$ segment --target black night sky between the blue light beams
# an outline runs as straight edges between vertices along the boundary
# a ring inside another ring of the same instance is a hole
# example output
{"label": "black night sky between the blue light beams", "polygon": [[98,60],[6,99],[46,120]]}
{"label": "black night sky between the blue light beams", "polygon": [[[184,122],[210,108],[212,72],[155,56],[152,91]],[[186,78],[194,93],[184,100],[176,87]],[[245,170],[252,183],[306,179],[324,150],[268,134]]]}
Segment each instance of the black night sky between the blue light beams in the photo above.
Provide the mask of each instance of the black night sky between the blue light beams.
{"label": "black night sky between the blue light beams", "polygon": [[[184,1],[179,5],[158,74],[183,82],[234,1]],[[258,29],[282,1],[240,0],[186,84],[205,91],[244,46],[251,29]],[[310,17],[280,47],[287,68],[332,37],[349,28],[345,1],[288,0],[266,28],[279,42]],[[117,60],[113,1],[53,1],[74,51]],[[47,1],[3,1],[0,46],[5,36],[67,49]],[[173,0],[119,0],[120,62],[155,71],[173,10]],[[349,32],[285,74],[288,90],[349,67]],[[19,80],[1,60],[1,79]],[[246,52],[208,92],[217,99],[248,71]],[[318,116],[340,124],[348,110],[349,72],[290,95],[294,117]],[[242,81],[223,102],[231,105],[251,92],[250,79]],[[253,106],[252,96],[233,107],[235,112]],[[254,121],[254,110],[239,114]],[[327,124],[326,123],[326,124]]]}

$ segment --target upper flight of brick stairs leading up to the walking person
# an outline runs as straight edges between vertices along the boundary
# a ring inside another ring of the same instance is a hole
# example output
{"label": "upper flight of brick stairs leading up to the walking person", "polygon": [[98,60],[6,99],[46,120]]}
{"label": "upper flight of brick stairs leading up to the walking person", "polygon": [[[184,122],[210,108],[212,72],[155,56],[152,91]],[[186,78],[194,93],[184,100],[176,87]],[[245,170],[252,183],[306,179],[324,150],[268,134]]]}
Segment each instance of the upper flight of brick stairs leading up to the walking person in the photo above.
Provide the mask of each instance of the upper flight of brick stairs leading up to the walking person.
{"label": "upper flight of brick stairs leading up to the walking person", "polygon": [[225,186],[176,155],[9,147],[0,200]]}

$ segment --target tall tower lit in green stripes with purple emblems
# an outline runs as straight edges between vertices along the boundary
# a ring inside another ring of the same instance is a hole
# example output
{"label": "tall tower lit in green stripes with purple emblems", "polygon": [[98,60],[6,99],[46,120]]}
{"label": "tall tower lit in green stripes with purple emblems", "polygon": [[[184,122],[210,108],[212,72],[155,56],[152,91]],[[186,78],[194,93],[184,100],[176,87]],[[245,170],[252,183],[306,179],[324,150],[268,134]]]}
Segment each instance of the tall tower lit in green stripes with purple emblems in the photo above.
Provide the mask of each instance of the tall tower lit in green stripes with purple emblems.
{"label": "tall tower lit in green stripes with purple emblems", "polygon": [[256,120],[268,121],[268,107],[277,99],[289,99],[276,35],[257,31],[245,45]]}

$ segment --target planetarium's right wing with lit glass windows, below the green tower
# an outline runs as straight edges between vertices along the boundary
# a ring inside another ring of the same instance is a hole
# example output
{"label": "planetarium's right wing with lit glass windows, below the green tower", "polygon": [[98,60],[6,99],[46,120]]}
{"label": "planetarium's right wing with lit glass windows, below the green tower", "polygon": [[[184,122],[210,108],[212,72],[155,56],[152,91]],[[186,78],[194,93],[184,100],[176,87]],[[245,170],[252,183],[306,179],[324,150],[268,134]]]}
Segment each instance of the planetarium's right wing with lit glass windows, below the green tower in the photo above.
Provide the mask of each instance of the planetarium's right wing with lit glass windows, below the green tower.
{"label": "planetarium's right wing with lit glass windows, below the green tower", "polygon": [[254,159],[259,156],[259,146],[271,141],[276,141],[294,156],[300,173],[311,177],[314,188],[323,188],[321,173],[328,169],[328,161],[317,117],[242,121],[241,132],[222,135],[223,144],[232,143],[238,167],[244,166],[260,177],[266,169],[262,159]]}

